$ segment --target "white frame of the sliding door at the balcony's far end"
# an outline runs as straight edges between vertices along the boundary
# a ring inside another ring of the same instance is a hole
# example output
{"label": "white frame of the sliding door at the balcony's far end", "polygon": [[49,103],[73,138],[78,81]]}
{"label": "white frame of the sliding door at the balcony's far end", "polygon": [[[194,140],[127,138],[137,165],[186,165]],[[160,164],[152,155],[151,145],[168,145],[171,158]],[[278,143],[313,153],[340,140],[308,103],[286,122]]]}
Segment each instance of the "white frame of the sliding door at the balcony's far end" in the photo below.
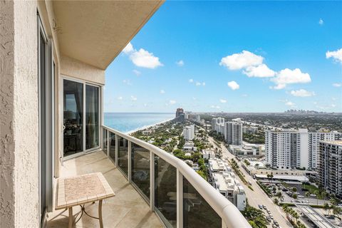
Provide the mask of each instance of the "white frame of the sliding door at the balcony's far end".
{"label": "white frame of the sliding door at the balcony's far end", "polygon": [[[83,142],[82,142],[82,146],[83,146],[83,151],[81,152],[76,152],[73,155],[68,155],[66,157],[64,157],[64,130],[63,130],[63,124],[64,124],[64,99],[63,99],[63,94],[64,94],[64,86],[63,86],[63,82],[64,80],[67,81],[73,81],[76,83],[81,83],[83,85],[83,117],[82,117],[82,124],[83,124],[83,130],[82,130],[82,138],[83,138]],[[74,157],[79,157],[81,155],[86,155],[90,152],[95,152],[100,150],[100,143],[102,142],[100,140],[100,137],[102,134],[100,134],[100,127],[102,124],[102,118],[103,118],[103,114],[102,114],[102,91],[103,91],[103,85],[99,84],[99,83],[89,83],[88,81],[83,81],[81,79],[78,78],[72,78],[69,76],[65,76],[65,75],[61,75],[61,81],[60,81],[60,85],[61,85],[61,95],[60,95],[60,100],[61,100],[61,120],[62,120],[62,131],[61,131],[61,145],[62,145],[62,161],[66,161],[69,159],[72,159]],[[86,86],[94,86],[98,88],[98,146],[97,147],[93,147],[90,148],[88,150],[86,150]]]}

